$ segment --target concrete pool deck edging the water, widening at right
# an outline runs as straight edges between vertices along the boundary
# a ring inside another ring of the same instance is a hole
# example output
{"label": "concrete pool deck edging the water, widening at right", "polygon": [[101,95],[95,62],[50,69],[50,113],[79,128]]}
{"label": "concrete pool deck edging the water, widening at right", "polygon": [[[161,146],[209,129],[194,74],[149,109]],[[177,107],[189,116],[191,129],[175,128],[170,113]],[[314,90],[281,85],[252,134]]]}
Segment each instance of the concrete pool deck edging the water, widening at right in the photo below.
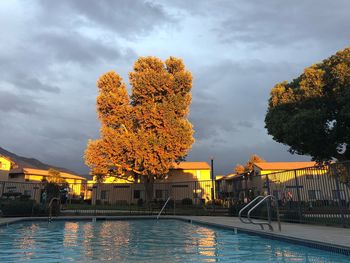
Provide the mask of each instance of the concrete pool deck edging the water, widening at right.
{"label": "concrete pool deck edging the water, widening at right", "polygon": [[[60,216],[57,220],[122,220],[122,219],[152,219],[155,216]],[[179,219],[197,224],[205,224],[220,228],[237,230],[238,232],[261,235],[267,238],[285,240],[315,248],[330,250],[350,255],[350,229],[329,226],[294,224],[282,222],[282,231],[278,231],[277,223],[273,223],[275,231],[261,230],[257,225],[242,223],[237,217],[223,216],[161,216],[160,219]],[[0,226],[22,221],[47,221],[46,217],[0,218]]]}

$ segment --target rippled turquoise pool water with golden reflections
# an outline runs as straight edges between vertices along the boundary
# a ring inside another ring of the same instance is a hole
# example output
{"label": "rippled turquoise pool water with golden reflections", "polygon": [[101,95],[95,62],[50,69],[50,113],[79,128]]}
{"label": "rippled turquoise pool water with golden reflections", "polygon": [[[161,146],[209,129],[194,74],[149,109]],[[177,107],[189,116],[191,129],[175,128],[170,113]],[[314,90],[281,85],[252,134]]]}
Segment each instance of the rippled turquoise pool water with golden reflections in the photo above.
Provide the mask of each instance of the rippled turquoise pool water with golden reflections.
{"label": "rippled turquoise pool water with golden reflections", "polygon": [[0,262],[350,262],[350,257],[177,220],[0,227]]}

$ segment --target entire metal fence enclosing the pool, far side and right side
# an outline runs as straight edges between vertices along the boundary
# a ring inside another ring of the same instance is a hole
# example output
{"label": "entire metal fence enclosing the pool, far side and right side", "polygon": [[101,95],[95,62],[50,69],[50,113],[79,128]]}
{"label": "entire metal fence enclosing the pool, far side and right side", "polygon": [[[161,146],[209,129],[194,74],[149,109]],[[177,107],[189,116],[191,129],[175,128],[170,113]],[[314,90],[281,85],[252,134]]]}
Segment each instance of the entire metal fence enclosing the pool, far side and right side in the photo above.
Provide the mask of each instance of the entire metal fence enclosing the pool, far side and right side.
{"label": "entire metal fence enclosing the pool, far side and right side", "polygon": [[[350,162],[334,163],[230,180],[156,182],[146,202],[142,183],[56,184],[0,182],[4,216],[46,215],[52,197],[60,197],[63,215],[154,215],[168,197],[165,214],[231,215],[257,195],[274,195],[287,222],[350,227]],[[274,214],[274,207],[272,214]],[[254,214],[266,219],[266,207]]]}

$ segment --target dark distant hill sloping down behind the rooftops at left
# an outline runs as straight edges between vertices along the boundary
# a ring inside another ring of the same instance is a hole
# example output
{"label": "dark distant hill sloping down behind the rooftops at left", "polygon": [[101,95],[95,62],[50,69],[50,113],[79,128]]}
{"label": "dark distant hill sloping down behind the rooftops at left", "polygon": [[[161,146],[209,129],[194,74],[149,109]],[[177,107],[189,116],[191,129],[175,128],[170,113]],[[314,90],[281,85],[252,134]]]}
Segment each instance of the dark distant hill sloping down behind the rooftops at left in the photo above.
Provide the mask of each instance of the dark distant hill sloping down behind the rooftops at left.
{"label": "dark distant hill sloping down behind the rooftops at left", "polygon": [[17,154],[14,154],[12,152],[5,150],[4,148],[1,148],[1,147],[0,147],[0,155],[9,157],[12,161],[14,161],[16,164],[18,164],[21,167],[42,169],[42,170],[48,170],[49,168],[54,168],[54,169],[59,170],[61,172],[77,174],[77,173],[70,171],[68,169],[49,165],[49,164],[43,163],[43,162],[41,162],[37,159],[34,159],[34,158],[27,158],[27,157],[19,156]]}

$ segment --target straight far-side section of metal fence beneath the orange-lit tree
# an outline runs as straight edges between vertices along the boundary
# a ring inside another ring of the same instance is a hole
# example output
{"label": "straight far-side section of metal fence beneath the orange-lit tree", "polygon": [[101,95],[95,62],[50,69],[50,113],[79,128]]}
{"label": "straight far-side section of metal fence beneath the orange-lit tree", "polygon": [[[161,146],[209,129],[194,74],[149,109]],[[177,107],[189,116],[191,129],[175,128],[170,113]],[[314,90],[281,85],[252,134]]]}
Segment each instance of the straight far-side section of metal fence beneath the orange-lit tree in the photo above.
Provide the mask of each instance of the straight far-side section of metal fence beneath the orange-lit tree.
{"label": "straight far-side section of metal fence beneath the orange-lit tree", "polygon": [[[220,210],[212,201],[215,198],[212,181],[156,182],[153,185],[153,198],[149,202],[146,202],[146,189],[142,183],[55,185],[57,188],[51,193],[52,189],[48,189],[46,182],[0,182],[0,209],[3,215],[45,215],[53,197],[60,197],[63,215],[153,215],[160,211],[168,197],[171,200],[164,214],[227,214],[227,209]],[[27,209],[10,209],[7,212],[6,206],[24,204]]]}

